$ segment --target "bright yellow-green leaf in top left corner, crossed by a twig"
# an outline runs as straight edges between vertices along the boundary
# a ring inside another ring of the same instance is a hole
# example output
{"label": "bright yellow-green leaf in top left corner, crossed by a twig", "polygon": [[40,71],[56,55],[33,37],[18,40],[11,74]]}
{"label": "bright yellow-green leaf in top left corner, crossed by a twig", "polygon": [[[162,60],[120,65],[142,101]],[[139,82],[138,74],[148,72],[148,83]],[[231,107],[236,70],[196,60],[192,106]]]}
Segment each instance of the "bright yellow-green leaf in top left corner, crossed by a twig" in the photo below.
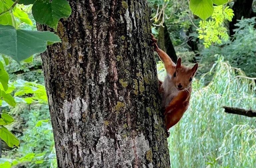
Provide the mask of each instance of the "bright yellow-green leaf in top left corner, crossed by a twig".
{"label": "bright yellow-green leaf in top left corner, crossed by a twig", "polygon": [[[0,1],[0,13],[3,11],[6,11],[7,9],[10,9],[13,2],[11,0],[4,0]],[[1,25],[12,25],[16,27],[15,19],[11,13],[11,11],[7,11],[4,14],[0,15],[0,24]]]}

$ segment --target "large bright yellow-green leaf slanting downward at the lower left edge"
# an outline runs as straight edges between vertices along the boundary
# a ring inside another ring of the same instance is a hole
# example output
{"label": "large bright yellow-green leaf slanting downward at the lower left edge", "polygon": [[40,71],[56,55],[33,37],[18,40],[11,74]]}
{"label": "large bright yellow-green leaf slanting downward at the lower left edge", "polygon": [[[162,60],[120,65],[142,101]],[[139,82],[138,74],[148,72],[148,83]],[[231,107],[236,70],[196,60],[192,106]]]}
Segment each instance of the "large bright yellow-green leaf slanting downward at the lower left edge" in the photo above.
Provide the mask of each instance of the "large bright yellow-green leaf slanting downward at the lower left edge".
{"label": "large bright yellow-green leaf slanting downward at the lower left edge", "polygon": [[0,126],[0,138],[5,141],[9,147],[18,146],[20,141],[4,126]]}

